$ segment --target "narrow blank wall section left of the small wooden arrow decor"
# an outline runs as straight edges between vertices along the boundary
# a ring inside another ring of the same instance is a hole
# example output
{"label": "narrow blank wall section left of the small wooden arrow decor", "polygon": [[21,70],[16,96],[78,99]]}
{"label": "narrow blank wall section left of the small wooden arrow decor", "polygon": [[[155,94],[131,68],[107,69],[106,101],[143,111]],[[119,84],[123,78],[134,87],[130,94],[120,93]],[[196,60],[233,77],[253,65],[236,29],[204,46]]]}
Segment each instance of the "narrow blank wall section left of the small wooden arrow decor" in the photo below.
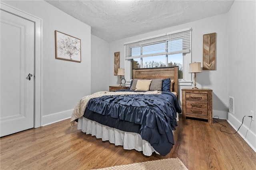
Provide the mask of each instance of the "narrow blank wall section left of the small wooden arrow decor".
{"label": "narrow blank wall section left of the small wooden arrow decor", "polygon": [[91,93],[108,91],[108,75],[110,74],[108,65],[109,43],[94,35],[91,38]]}

